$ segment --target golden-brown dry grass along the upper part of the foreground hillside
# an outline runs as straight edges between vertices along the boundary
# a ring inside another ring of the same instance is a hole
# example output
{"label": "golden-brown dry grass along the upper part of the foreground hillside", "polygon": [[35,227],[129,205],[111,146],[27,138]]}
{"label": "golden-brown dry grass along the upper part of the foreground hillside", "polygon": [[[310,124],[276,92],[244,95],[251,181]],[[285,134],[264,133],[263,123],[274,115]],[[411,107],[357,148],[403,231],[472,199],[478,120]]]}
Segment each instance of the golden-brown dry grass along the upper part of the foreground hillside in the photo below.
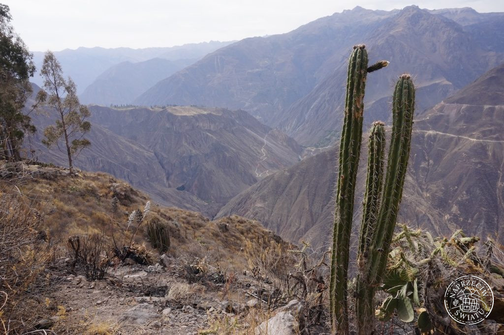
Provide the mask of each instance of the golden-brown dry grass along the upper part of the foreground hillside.
{"label": "golden-brown dry grass along the upper part of the foreground hillside", "polygon": [[[81,172],[77,177],[69,177],[53,167],[32,165],[30,169],[34,178],[27,180],[21,191],[34,199],[39,211],[44,213],[45,228],[61,244],[69,236],[96,233],[113,235],[120,244],[128,227],[129,213],[143,210],[149,200],[145,194],[108,174]],[[118,198],[115,212],[111,208],[114,196]],[[244,253],[247,241],[278,239],[257,221],[238,216],[211,221],[200,213],[152,204],[144,221],[150,220],[159,220],[167,226],[171,242],[168,255],[207,257],[210,263],[237,272],[247,268]],[[133,238],[136,245],[147,242],[146,227],[146,224],[138,226]],[[130,228],[126,242],[132,233]],[[260,252],[262,245],[252,247]]]}

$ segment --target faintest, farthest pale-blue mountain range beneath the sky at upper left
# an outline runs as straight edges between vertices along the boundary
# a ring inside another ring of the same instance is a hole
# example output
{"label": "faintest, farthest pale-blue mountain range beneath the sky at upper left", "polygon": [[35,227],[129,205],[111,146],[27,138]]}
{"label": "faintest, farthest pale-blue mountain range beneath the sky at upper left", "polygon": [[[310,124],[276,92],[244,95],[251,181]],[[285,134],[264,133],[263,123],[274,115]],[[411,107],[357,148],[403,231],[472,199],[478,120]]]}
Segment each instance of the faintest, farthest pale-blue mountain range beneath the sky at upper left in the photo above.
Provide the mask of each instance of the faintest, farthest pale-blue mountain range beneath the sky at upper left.
{"label": "faintest, farthest pale-blue mountain range beneath the sky at upper left", "polygon": [[[121,62],[142,62],[152,58],[162,58],[171,61],[198,60],[232,42],[203,42],[184,44],[166,48],[85,48],[65,49],[55,51],[56,58],[67,76],[77,84],[77,92],[81,94],[105,70]],[[37,74],[32,81],[42,85],[42,78],[38,75],[42,66],[45,51],[33,52],[33,60],[37,67]]]}

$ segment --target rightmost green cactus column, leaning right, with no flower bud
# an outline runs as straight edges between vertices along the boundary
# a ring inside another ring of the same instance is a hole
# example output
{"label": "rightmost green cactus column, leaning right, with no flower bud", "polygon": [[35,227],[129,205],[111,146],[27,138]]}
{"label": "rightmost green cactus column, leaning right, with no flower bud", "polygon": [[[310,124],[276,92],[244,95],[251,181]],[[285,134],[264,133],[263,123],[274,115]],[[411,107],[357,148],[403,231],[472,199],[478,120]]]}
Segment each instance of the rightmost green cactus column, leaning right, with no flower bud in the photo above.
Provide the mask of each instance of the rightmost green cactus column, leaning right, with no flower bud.
{"label": "rightmost green cactus column, leaning right, with no flower bud", "polygon": [[[363,227],[365,236],[362,250],[359,246],[359,278],[357,283],[357,321],[359,334],[372,333],[374,322],[373,297],[377,286],[382,283],[387,266],[390,243],[401,203],[406,168],[411,147],[411,130],[415,105],[415,87],[409,74],[403,74],[396,83],[393,96],[392,138],[389,147],[387,175],[377,214],[375,227]],[[374,156],[374,153],[372,154]],[[377,157],[370,158],[372,160]],[[366,201],[367,188],[366,185]],[[379,190],[378,190],[379,191]],[[380,192],[380,191],[379,191]],[[378,200],[380,201],[380,200]],[[368,223],[364,220],[363,225]],[[369,230],[372,233],[369,234]],[[367,236],[370,238],[367,239]],[[369,244],[366,245],[365,241]]]}

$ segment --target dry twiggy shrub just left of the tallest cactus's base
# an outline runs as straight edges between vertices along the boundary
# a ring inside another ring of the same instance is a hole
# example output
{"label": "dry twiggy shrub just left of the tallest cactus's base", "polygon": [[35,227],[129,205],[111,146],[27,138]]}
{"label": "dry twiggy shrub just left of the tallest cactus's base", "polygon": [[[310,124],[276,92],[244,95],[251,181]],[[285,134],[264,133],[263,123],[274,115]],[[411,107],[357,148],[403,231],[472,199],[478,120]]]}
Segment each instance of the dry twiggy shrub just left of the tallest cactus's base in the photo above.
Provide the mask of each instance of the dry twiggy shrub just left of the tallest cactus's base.
{"label": "dry twiggy shrub just left of the tallest cactus's base", "polygon": [[[258,245],[262,250],[259,253],[256,252]],[[327,253],[320,258],[307,243],[303,242],[301,249],[290,249],[275,239],[263,239],[247,242],[245,254],[257,288],[249,294],[264,303],[248,319],[256,319],[259,324],[273,310],[296,299],[303,306],[299,319],[301,329],[309,333],[324,328]]]}

